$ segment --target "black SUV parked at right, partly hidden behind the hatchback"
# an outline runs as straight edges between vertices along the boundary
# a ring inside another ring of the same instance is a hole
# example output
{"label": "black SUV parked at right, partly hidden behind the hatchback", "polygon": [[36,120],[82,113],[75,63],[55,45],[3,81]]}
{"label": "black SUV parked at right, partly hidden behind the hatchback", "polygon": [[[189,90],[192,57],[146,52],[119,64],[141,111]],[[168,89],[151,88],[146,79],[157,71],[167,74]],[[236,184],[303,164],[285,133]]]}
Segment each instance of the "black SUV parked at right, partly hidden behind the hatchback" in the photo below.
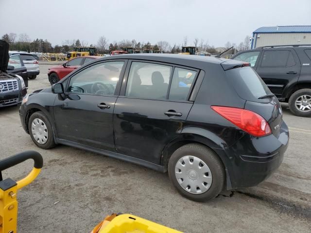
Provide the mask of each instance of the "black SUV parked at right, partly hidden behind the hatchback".
{"label": "black SUV parked at right, partly hidden behind the hatchback", "polygon": [[294,115],[311,116],[311,45],[259,47],[232,59],[249,62]]}

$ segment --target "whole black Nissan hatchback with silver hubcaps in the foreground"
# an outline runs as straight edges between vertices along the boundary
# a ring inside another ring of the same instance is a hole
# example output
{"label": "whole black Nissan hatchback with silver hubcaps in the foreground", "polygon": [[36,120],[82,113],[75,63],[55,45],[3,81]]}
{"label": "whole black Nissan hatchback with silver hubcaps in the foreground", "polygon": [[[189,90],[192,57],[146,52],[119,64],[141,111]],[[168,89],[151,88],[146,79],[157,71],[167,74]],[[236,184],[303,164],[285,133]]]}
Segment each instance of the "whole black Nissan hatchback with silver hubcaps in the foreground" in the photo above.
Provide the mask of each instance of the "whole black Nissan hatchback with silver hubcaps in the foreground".
{"label": "whole black Nissan hatchback with silver hubcaps in the foreground", "polygon": [[40,148],[168,171],[196,201],[262,182],[289,142],[278,100],[248,63],[195,55],[95,60],[25,97],[20,119]]}

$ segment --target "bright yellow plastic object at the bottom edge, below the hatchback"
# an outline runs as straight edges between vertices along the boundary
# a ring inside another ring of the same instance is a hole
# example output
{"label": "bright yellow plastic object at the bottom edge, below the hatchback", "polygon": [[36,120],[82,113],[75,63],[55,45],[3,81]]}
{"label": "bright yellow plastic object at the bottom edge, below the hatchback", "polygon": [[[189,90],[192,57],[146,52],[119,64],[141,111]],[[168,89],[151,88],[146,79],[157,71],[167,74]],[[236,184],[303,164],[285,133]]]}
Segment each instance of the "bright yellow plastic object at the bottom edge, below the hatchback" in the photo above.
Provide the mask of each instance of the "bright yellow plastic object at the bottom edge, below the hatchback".
{"label": "bright yellow plastic object at the bottom edge, below the hatchback", "polygon": [[103,221],[98,233],[181,233],[134,215],[119,215],[110,222]]}

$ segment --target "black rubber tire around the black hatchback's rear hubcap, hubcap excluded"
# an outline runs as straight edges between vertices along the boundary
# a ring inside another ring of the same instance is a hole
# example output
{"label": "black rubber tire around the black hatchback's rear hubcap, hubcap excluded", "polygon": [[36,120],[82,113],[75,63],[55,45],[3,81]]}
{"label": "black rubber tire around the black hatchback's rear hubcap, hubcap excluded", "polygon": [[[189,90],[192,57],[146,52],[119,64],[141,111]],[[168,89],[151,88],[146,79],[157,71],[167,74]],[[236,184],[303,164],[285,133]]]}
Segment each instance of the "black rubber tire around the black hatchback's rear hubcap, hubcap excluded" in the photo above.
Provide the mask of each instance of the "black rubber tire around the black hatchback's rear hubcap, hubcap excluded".
{"label": "black rubber tire around the black hatchback's rear hubcap, hubcap excluded", "polygon": [[[175,176],[175,166],[179,159],[183,158],[184,156],[195,156],[202,160],[210,169],[212,174],[212,182],[209,186],[208,190],[201,193],[201,194],[192,194],[186,191],[177,181]],[[207,201],[213,199],[219,195],[219,193],[224,188],[225,183],[225,169],[223,163],[216,155],[216,153],[209,148],[200,145],[200,144],[187,144],[184,145],[177,150],[175,150],[170,158],[169,161],[169,177],[175,188],[178,192],[194,201]]]}

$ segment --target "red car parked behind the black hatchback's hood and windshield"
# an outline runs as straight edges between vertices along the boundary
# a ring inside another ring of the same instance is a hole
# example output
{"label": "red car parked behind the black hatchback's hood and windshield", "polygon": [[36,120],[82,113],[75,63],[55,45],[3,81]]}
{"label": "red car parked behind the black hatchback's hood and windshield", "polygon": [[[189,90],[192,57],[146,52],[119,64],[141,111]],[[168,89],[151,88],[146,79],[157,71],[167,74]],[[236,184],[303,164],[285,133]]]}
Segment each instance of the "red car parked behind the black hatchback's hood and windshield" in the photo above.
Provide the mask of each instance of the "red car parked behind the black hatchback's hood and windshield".
{"label": "red car parked behind the black hatchback's hood and windshield", "polygon": [[83,56],[83,57],[76,57],[68,62],[64,63],[61,66],[49,68],[48,76],[51,85],[57,83],[59,80],[64,78],[70,72],[75,70],[78,67],[83,66],[84,64],[93,61],[94,59],[101,58],[101,56]]}

